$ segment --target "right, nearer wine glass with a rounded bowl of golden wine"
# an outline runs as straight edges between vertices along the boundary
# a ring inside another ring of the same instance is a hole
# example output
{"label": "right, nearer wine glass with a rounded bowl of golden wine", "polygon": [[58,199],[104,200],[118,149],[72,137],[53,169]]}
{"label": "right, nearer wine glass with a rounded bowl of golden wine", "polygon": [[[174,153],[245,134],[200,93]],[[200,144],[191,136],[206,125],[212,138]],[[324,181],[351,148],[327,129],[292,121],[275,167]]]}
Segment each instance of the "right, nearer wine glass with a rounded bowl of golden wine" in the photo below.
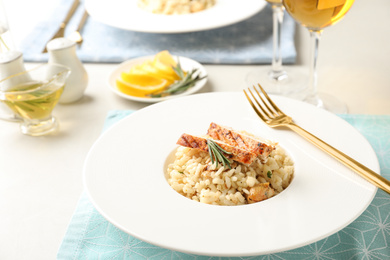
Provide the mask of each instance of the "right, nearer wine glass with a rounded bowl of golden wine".
{"label": "right, nearer wine glass with a rounded bowl of golden wine", "polygon": [[322,31],[348,12],[355,0],[283,0],[287,12],[309,29],[311,38],[311,64],[308,95],[305,101],[336,114],[347,113],[347,106],[337,98],[317,91],[318,46]]}

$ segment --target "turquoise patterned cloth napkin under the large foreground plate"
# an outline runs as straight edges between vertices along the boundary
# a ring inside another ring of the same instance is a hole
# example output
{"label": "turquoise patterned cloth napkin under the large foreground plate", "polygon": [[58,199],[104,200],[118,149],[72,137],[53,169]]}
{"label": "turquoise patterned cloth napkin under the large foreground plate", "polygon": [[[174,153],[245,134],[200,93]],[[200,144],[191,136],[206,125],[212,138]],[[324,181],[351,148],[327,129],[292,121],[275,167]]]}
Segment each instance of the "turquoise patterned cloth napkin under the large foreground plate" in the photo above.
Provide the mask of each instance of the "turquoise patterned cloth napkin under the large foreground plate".
{"label": "turquoise patterned cloth napkin under the large foreground plate", "polygon": [[[132,113],[111,111],[104,129]],[[390,178],[390,116],[341,115],[373,146],[381,174]],[[219,258],[185,254],[154,246],[119,230],[105,220],[82,194],[57,259],[390,259],[390,196],[378,190],[374,200],[353,223],[316,243],[285,252]]]}

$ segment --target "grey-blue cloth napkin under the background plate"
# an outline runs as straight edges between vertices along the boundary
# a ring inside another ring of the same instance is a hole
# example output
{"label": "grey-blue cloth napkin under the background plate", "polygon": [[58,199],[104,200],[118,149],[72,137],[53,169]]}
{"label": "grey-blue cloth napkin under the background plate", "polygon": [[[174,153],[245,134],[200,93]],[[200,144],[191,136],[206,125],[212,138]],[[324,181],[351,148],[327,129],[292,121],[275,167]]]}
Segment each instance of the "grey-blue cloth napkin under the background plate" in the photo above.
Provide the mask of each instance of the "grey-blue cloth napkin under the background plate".
{"label": "grey-blue cloth napkin under the background plate", "polygon": [[[46,42],[53,36],[65,16],[71,2],[57,1],[53,13],[42,9],[44,20],[19,43],[25,61],[47,61],[48,54],[42,54]],[[65,37],[77,28],[84,9],[79,7],[69,22]],[[295,22],[285,15],[282,26],[281,48],[283,63],[294,63]],[[256,64],[272,61],[272,9],[267,5],[251,18],[218,29],[179,33],[159,34],[127,31],[102,24],[89,17],[82,30],[84,42],[77,50],[83,62],[116,63],[154,55],[169,50],[174,55],[185,56],[208,64]]]}

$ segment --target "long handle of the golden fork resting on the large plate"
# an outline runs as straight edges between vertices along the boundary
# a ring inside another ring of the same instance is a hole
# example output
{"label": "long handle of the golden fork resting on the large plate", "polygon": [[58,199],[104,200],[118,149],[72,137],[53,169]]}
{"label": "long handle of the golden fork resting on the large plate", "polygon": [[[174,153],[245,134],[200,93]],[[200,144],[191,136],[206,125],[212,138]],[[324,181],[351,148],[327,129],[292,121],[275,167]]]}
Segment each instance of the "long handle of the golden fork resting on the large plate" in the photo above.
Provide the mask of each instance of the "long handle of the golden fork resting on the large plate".
{"label": "long handle of the golden fork resting on the large plate", "polygon": [[289,124],[287,127],[289,127],[291,130],[295,131],[308,141],[310,141],[312,144],[323,150],[324,152],[330,154],[332,157],[339,160],[341,163],[343,163],[345,166],[349,167],[351,170],[362,176],[364,179],[368,180],[378,188],[384,190],[385,192],[390,194],[390,181],[385,179],[383,176],[377,174],[376,172],[370,170],[363,164],[357,162],[356,160],[352,159],[348,155],[344,154],[343,152],[337,150],[333,146],[325,143],[318,137],[314,136],[313,134],[309,133],[305,129],[301,128],[300,126],[292,123]]}

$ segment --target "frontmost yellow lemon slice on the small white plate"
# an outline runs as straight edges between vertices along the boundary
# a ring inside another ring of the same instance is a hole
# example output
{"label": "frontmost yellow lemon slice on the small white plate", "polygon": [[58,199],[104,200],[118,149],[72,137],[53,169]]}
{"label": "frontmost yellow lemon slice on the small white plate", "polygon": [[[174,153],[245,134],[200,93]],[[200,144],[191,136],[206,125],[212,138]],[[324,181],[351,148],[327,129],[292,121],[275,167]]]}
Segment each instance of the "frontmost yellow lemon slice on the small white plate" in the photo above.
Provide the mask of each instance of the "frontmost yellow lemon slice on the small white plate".
{"label": "frontmost yellow lemon slice on the small white plate", "polygon": [[122,73],[116,80],[116,86],[122,93],[135,97],[146,97],[149,94],[164,90],[169,84],[162,78],[149,75],[135,75]]}

